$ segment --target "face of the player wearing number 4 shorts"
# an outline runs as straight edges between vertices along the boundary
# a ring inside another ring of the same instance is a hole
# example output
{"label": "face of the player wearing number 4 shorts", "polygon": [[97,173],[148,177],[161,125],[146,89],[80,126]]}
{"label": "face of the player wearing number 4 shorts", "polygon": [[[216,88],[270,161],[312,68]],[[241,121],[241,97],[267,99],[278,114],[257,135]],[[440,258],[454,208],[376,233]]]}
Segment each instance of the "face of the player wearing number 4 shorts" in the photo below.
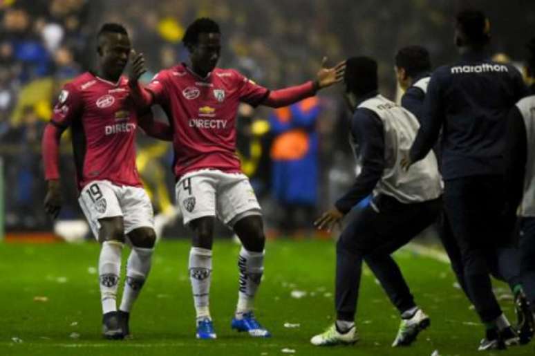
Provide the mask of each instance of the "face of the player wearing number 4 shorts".
{"label": "face of the player wearing number 4 shorts", "polygon": [[221,35],[218,33],[200,33],[198,43],[191,51],[191,64],[200,74],[214,70],[221,53]]}

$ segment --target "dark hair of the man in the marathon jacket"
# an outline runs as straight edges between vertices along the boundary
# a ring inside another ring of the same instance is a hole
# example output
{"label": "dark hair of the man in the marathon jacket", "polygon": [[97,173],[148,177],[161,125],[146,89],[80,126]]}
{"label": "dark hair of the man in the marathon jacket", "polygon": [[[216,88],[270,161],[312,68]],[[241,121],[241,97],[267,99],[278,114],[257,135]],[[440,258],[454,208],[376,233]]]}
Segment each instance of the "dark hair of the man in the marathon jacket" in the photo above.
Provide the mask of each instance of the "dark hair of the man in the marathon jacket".
{"label": "dark hair of the man in the marathon jacket", "polygon": [[490,21],[480,10],[462,10],[456,16],[456,27],[471,45],[483,46],[490,40]]}

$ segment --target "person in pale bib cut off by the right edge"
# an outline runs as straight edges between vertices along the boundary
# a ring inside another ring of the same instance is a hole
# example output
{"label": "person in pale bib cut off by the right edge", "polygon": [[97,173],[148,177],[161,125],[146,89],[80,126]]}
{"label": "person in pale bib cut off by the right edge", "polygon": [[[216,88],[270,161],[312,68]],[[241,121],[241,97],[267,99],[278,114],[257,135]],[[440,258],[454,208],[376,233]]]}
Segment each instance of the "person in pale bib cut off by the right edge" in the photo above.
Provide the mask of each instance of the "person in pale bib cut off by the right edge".
{"label": "person in pale bib cut off by the right edge", "polygon": [[[527,45],[525,66],[529,95],[509,112],[507,159],[509,185],[520,200],[520,271],[531,315],[519,322],[521,342],[527,343],[535,332],[535,37]],[[515,205],[516,206],[516,205]],[[525,332],[522,332],[525,330]]]}

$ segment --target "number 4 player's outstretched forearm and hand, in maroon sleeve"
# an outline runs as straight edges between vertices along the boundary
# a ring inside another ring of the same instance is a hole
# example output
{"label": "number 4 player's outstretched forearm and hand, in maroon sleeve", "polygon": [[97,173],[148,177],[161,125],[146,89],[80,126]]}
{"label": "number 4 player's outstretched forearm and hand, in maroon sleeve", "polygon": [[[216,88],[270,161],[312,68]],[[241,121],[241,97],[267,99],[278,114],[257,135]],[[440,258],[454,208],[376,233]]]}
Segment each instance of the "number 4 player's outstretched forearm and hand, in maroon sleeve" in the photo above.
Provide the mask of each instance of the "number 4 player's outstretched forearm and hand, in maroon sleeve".
{"label": "number 4 player's outstretched forearm and hand, in maroon sleeve", "polygon": [[288,106],[294,102],[299,102],[306,97],[315,95],[320,89],[341,82],[341,80],[344,79],[346,62],[340,62],[332,68],[326,68],[326,63],[327,57],[323,57],[321,69],[318,71],[315,80],[297,86],[270,91],[261,104],[272,108]]}

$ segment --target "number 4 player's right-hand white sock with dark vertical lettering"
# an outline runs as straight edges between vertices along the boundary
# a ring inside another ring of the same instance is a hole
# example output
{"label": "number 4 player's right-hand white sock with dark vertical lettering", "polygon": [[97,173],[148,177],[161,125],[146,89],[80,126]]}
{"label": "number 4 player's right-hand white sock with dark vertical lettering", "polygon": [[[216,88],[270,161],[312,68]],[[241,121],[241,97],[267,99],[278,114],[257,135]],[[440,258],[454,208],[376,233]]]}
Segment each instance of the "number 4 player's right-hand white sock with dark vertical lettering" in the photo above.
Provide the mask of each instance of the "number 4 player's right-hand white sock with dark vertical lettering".
{"label": "number 4 player's right-hand white sock with dark vertical lettering", "polygon": [[240,289],[238,291],[238,306],[236,319],[250,312],[254,304],[254,295],[258,290],[264,272],[264,252],[251,252],[241,247],[238,256],[240,270]]}

